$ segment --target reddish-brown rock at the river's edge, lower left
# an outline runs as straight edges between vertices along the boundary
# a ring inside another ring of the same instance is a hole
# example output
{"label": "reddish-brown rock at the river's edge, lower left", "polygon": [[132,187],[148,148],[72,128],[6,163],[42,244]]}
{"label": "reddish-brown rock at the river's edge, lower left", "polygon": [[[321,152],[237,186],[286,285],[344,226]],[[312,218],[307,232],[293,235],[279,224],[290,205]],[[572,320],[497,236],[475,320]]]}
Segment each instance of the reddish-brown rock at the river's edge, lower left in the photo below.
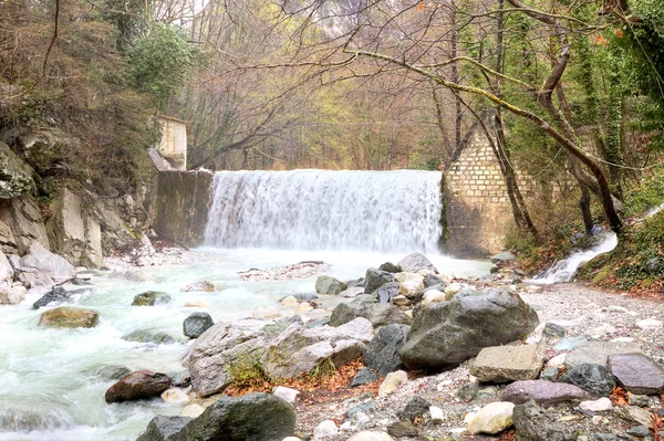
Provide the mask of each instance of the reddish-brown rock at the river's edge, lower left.
{"label": "reddish-brown rock at the river's edge, lower left", "polygon": [[172,379],[166,374],[152,370],[137,370],[122,377],[111,386],[104,396],[107,403],[158,397],[170,387]]}

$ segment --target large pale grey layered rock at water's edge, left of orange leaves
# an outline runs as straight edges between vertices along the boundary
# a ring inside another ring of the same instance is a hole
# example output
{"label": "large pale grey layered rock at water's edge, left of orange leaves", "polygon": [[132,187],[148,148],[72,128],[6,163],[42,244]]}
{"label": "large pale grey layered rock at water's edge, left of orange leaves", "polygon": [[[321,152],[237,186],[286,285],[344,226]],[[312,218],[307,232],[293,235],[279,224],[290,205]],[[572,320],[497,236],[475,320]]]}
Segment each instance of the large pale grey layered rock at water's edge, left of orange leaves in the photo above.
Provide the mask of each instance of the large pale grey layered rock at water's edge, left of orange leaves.
{"label": "large pale grey layered rock at water's edge, left of orange leaves", "polygon": [[224,390],[234,372],[253,371],[272,335],[263,332],[267,322],[252,318],[221,322],[197,338],[183,356],[191,386],[201,397]]}

